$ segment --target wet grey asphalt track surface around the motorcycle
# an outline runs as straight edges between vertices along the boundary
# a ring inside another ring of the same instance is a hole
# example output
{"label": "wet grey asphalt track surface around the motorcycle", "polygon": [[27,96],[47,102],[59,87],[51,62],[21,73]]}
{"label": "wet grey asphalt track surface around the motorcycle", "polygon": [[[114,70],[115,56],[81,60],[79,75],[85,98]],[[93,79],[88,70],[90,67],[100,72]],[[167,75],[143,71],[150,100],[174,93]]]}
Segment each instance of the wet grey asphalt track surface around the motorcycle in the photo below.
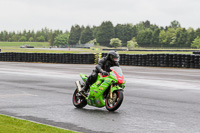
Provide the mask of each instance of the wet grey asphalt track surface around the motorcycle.
{"label": "wet grey asphalt track surface around the motorcycle", "polygon": [[114,113],[72,104],[79,73],[95,65],[0,62],[0,114],[85,133],[199,133],[200,69],[122,66]]}

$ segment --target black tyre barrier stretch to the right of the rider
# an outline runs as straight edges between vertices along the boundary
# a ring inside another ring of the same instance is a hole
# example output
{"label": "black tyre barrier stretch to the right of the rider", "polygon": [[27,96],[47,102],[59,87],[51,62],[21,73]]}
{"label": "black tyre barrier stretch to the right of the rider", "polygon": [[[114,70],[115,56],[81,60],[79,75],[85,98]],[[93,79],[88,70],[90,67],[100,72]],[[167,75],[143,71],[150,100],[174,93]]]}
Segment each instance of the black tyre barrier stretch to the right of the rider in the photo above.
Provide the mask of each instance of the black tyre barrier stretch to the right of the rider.
{"label": "black tyre barrier stretch to the right of the rider", "polygon": [[[106,56],[102,53],[102,56]],[[200,55],[195,54],[120,54],[120,65],[151,67],[200,68]]]}

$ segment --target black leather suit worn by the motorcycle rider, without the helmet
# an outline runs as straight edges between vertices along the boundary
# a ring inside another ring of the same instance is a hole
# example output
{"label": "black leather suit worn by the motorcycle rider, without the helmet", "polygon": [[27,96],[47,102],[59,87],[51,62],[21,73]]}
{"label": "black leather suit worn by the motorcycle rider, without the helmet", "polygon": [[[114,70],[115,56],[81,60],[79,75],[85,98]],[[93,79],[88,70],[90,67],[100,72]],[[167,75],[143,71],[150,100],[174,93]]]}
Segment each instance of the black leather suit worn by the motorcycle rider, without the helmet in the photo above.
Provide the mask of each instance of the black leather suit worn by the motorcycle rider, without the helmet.
{"label": "black leather suit worn by the motorcycle rider, without the helmet", "polygon": [[113,66],[119,66],[119,62],[111,61],[109,59],[109,56],[103,57],[97,64],[96,69],[93,70],[92,74],[88,77],[88,80],[86,81],[86,85],[89,86],[95,83],[98,77],[98,73],[101,73],[102,70],[109,72],[110,67],[113,67]]}

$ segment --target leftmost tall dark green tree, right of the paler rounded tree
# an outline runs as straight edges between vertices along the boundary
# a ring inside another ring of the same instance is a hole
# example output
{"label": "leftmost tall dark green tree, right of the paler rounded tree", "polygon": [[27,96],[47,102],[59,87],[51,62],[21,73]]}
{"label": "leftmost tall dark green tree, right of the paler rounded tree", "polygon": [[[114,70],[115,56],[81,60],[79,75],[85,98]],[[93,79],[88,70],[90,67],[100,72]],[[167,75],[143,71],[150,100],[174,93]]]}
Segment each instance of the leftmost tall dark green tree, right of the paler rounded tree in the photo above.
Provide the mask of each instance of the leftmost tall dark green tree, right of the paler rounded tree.
{"label": "leftmost tall dark green tree, right of the paler rounded tree", "polygon": [[71,27],[70,36],[69,36],[69,44],[74,45],[78,44],[81,36],[81,28],[79,25],[75,25]]}

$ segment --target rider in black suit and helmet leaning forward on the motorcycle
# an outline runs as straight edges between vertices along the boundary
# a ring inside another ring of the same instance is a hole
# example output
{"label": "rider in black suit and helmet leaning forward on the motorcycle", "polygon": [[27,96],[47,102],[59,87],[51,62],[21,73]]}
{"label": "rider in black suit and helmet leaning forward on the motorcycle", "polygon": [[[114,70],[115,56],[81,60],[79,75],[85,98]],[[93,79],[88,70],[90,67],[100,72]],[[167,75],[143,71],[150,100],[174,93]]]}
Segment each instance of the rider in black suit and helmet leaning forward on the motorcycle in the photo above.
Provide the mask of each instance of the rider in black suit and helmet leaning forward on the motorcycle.
{"label": "rider in black suit and helmet leaning forward on the motorcycle", "polygon": [[95,70],[93,70],[92,74],[88,77],[81,91],[86,92],[90,88],[90,85],[96,82],[98,73],[101,73],[103,76],[108,76],[110,67],[119,66],[119,59],[119,54],[116,51],[110,51],[106,57],[103,57],[98,62]]}

